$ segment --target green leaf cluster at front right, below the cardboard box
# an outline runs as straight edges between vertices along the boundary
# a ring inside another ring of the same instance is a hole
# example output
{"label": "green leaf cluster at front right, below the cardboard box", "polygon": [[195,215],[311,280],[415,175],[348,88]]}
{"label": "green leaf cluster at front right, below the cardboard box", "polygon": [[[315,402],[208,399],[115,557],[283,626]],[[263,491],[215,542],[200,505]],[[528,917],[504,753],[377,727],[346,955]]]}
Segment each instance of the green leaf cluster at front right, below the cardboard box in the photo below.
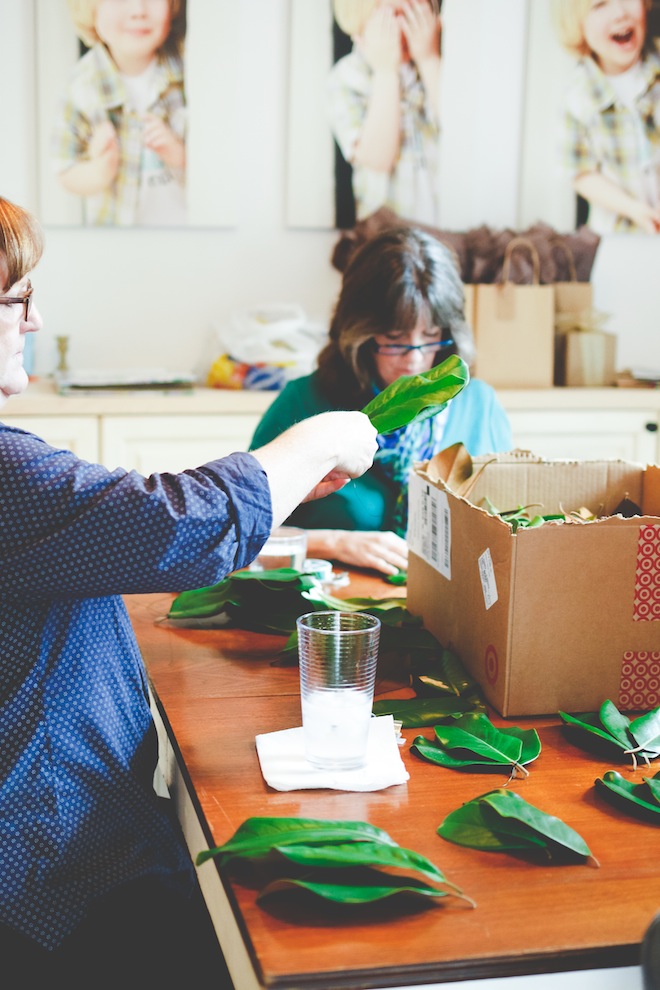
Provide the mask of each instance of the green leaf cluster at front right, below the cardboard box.
{"label": "green leaf cluster at front right, below the cardboard box", "polygon": [[456,845],[486,852],[542,851],[548,860],[577,858],[600,865],[578,832],[503,788],[452,811],[439,826],[438,835]]}

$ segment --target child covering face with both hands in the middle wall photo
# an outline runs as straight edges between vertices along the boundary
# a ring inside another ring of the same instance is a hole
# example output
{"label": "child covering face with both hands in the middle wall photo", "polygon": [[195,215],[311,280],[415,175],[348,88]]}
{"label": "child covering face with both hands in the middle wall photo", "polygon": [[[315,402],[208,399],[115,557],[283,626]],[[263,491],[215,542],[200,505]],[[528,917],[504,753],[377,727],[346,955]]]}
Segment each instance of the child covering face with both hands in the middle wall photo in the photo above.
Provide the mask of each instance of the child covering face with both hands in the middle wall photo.
{"label": "child covering face with both hands in the middle wall photo", "polygon": [[438,222],[440,37],[436,0],[334,0],[353,47],[330,70],[327,110],[352,167],[356,218],[382,206]]}

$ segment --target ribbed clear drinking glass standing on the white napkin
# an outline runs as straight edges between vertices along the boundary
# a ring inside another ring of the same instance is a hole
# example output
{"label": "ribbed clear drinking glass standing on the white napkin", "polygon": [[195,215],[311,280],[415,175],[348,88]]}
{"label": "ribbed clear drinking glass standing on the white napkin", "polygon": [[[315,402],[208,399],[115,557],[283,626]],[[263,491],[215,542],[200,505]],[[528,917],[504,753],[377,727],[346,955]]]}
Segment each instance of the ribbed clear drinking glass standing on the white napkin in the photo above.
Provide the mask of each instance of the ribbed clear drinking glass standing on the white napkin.
{"label": "ribbed clear drinking glass standing on the white napkin", "polygon": [[305,757],[325,770],[365,765],[380,620],[309,612],[297,620]]}

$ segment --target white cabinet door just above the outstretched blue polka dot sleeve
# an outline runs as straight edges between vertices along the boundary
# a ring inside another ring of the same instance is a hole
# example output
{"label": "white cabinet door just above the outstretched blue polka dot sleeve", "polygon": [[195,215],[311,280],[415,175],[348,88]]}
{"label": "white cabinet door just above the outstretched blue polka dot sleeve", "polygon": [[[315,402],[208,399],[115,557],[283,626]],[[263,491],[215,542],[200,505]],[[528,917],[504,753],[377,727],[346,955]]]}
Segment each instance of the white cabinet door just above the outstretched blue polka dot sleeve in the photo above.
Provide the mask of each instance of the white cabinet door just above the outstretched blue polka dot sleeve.
{"label": "white cabinet door just above the outstretched blue polka dot sleeve", "polygon": [[103,416],[101,457],[108,468],[184,471],[247,450],[260,416]]}

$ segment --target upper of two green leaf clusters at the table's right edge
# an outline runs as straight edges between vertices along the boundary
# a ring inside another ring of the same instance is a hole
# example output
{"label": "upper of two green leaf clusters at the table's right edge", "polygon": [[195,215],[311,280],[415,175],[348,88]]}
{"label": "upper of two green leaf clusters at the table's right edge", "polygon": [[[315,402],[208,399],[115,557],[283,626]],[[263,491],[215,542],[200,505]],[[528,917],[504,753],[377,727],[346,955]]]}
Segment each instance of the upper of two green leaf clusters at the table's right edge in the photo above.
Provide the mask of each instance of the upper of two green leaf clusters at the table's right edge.
{"label": "upper of two green leaf clusters at the table's right edge", "polygon": [[660,756],[660,707],[632,721],[609,700],[598,712],[559,715],[570,736],[584,748],[630,756],[633,770],[638,760],[649,766],[650,760]]}

